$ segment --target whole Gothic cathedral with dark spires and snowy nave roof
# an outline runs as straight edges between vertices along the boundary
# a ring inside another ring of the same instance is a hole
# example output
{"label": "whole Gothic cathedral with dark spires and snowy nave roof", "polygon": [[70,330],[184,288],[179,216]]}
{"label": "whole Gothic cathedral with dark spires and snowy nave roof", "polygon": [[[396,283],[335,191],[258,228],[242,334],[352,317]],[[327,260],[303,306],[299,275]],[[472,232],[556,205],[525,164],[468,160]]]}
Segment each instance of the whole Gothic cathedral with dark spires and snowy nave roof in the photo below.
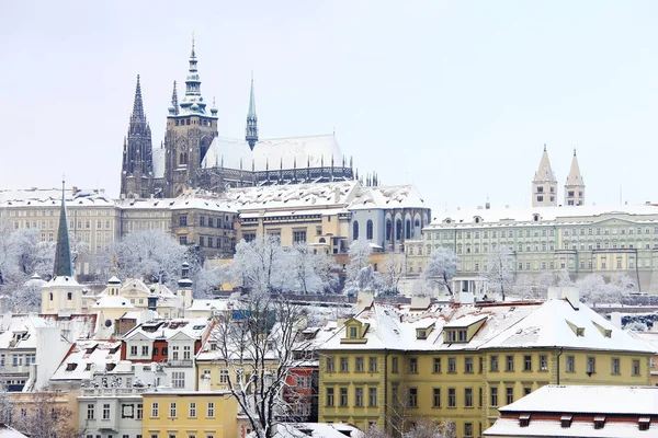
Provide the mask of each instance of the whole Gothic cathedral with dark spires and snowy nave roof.
{"label": "whole Gothic cathedral with dark spires and snowy nave roof", "polygon": [[185,94],[179,103],[174,81],[164,141],[152,149],[138,77],[124,140],[121,196],[172,198],[190,188],[219,193],[229,187],[358,178],[352,160],[347,163],[333,135],[260,139],[253,77],[245,139],[219,137],[217,113],[214,104],[207,108],[201,93],[192,42]]}

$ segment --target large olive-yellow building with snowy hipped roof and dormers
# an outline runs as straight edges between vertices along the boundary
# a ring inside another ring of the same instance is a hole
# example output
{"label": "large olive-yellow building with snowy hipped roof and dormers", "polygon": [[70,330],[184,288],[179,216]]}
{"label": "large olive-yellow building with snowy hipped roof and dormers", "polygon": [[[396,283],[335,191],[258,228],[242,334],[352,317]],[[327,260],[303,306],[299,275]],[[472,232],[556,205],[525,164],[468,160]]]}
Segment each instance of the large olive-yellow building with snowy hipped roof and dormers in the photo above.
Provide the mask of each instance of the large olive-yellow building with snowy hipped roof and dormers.
{"label": "large olive-yellow building with snowy hipped roof and dormers", "polygon": [[[371,304],[320,348],[319,420],[479,437],[498,406],[545,384],[648,384],[653,353],[578,302]],[[427,302],[427,301],[426,301]]]}

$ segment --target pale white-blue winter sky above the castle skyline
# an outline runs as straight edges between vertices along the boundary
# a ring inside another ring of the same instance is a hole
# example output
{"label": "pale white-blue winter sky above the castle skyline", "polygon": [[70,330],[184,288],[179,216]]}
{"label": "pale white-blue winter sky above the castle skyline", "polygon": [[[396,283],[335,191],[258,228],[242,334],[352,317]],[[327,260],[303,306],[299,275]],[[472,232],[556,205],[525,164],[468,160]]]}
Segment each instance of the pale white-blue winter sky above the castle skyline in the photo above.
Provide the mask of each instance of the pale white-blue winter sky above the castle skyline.
{"label": "pale white-blue winter sky above the castle skyline", "polygon": [[154,146],[191,34],[219,135],[331,132],[435,212],[530,204],[546,143],[588,204],[658,201],[656,1],[26,1],[0,13],[0,188],[118,194],[141,74]]}

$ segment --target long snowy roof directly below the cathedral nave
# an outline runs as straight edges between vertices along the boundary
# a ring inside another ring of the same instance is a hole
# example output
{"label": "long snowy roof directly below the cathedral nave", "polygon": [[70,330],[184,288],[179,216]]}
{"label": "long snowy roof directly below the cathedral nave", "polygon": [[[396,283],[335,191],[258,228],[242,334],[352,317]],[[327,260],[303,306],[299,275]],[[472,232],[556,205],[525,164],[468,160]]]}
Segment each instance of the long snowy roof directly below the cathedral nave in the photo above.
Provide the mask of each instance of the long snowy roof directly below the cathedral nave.
{"label": "long snowy roof directly below the cathedral nave", "polygon": [[230,188],[224,194],[239,211],[347,206],[356,181]]}

